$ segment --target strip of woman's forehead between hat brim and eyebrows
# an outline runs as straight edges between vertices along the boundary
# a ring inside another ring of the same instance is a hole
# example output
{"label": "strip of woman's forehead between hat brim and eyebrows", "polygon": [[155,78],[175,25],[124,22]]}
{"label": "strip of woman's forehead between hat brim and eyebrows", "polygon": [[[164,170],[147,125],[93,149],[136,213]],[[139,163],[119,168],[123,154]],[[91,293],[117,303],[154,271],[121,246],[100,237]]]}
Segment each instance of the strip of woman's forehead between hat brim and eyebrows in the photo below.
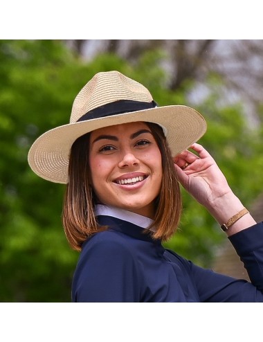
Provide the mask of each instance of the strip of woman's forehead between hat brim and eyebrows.
{"label": "strip of woman's forehead between hat brim and eyebrows", "polygon": [[100,136],[102,134],[109,134],[114,136],[123,132],[125,132],[125,134],[127,134],[127,132],[134,133],[140,129],[149,129],[149,127],[142,121],[136,121],[135,123],[122,123],[120,125],[95,129],[93,132],[91,132],[91,136],[93,138],[96,138],[96,136]]}

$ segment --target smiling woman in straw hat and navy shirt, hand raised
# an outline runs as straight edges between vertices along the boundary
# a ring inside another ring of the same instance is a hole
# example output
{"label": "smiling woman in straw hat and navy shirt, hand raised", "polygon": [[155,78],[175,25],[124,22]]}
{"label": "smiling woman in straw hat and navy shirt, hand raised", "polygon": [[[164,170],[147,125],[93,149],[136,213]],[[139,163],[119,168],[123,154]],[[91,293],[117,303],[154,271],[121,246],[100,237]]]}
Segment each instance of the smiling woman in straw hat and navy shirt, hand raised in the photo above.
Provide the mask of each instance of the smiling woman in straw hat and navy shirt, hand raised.
{"label": "smiling woman in straw hat and navy shirt, hand raised", "polygon": [[[263,301],[262,223],[195,143],[205,131],[194,109],[157,107],[142,84],[110,71],[78,93],[69,125],[35,141],[33,171],[67,183],[64,229],[81,251],[74,302]],[[179,182],[226,231],[251,283],[163,248],[180,220]]]}

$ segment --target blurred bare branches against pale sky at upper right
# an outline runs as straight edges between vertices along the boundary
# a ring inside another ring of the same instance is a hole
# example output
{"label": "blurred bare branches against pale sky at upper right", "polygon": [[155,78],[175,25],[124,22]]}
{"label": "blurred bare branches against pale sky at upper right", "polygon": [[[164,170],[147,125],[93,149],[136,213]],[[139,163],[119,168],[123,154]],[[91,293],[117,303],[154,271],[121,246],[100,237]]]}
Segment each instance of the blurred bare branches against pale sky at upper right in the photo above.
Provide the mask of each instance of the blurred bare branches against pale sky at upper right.
{"label": "blurred bare branches against pale sky at upper right", "polygon": [[84,59],[109,52],[135,67],[145,51],[161,49],[165,54],[158,67],[167,73],[168,89],[177,91],[188,80],[195,80],[188,101],[200,103],[204,93],[211,93],[206,84],[208,76],[219,75],[223,87],[217,84],[215,91],[221,102],[243,102],[244,115],[253,125],[262,123],[262,111],[258,111],[262,106],[262,39],[88,39],[69,40],[66,44]]}

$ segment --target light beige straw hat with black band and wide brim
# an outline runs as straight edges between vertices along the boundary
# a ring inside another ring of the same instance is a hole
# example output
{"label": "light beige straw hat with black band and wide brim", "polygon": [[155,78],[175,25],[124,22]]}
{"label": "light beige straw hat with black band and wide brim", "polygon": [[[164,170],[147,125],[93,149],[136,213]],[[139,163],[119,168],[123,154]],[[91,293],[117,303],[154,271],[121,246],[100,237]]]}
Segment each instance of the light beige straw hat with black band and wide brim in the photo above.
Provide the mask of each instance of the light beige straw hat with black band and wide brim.
{"label": "light beige straw hat with black band and wide brim", "polygon": [[68,183],[69,154],[74,141],[94,129],[146,121],[163,128],[176,156],[206,132],[206,121],[196,110],[172,105],[157,107],[140,83],[118,71],[97,73],[76,96],[69,124],[39,136],[28,152],[30,168],[55,183]]}

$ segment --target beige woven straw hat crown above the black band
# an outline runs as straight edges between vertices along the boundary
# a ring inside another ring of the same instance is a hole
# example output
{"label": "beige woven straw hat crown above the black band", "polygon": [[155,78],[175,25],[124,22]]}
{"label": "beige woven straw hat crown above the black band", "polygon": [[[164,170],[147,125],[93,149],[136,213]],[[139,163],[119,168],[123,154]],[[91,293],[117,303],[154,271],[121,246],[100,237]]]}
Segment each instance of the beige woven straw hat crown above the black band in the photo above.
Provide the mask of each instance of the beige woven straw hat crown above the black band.
{"label": "beige woven straw hat crown above the black band", "polygon": [[152,102],[148,89],[119,71],[100,72],[87,82],[76,96],[70,123],[77,122],[84,114],[100,106],[119,100]]}

